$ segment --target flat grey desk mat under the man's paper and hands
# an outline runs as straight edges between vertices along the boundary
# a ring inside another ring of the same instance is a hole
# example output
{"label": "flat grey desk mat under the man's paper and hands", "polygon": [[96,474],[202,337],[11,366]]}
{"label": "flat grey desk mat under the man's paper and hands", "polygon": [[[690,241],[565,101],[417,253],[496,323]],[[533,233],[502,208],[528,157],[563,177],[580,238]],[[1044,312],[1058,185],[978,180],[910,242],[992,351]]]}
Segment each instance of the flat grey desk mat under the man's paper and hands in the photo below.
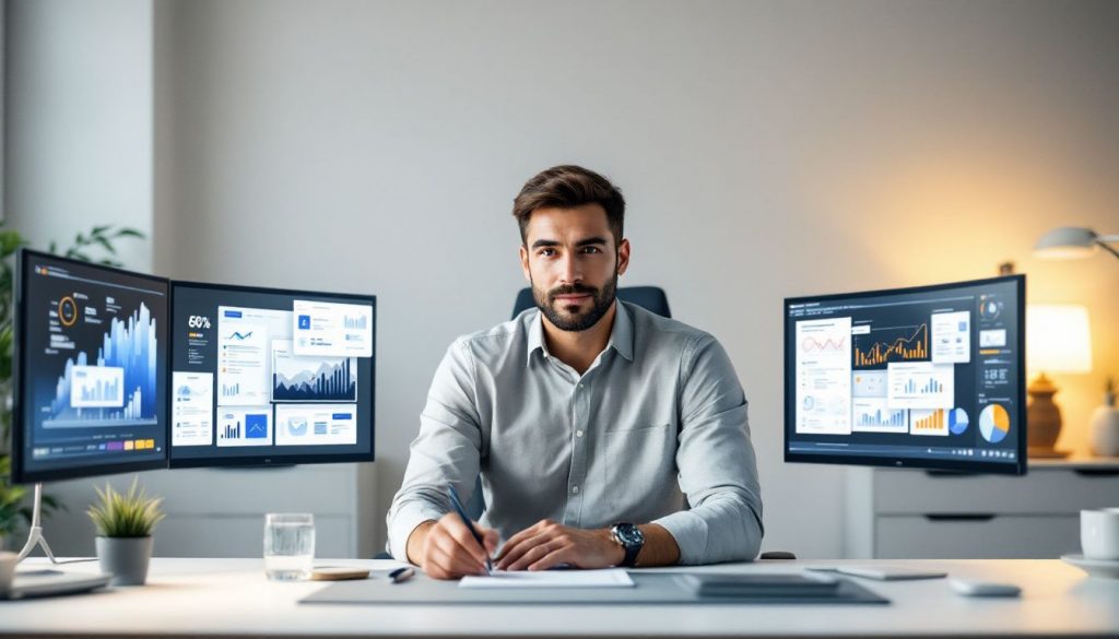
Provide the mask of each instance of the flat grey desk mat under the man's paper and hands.
{"label": "flat grey desk mat under the man's paper and hands", "polygon": [[633,588],[466,589],[455,581],[416,575],[394,584],[383,576],[340,581],[300,600],[300,603],[357,603],[374,605],[448,604],[744,604],[744,603],[890,603],[865,586],[840,579],[831,596],[699,598],[670,573],[631,573]]}

